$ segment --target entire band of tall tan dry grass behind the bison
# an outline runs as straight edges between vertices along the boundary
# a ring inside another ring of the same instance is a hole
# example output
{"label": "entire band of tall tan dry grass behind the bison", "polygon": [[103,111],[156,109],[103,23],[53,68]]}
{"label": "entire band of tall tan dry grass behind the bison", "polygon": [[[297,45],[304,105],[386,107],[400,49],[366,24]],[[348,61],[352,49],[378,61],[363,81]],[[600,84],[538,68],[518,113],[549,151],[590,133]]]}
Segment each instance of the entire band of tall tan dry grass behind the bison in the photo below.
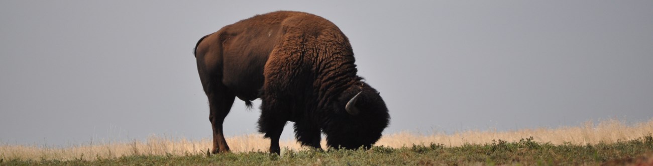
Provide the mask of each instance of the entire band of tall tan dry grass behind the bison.
{"label": "entire band of tall tan dry grass behind the bison", "polygon": [[[597,124],[586,122],[581,126],[560,127],[557,129],[537,128],[519,129],[515,131],[462,131],[453,134],[432,133],[428,135],[400,132],[385,135],[375,144],[400,148],[412,144],[428,144],[430,142],[445,146],[461,146],[463,144],[485,144],[501,139],[513,142],[533,137],[537,142],[551,144],[597,144],[627,141],[653,133],[653,119],[633,125],[626,125],[619,120],[604,120]],[[251,134],[227,138],[232,152],[265,152],[269,141],[263,135]],[[282,141],[281,147],[300,150],[302,147],[295,141]],[[146,141],[130,142],[89,142],[79,146],[66,148],[51,148],[39,145],[0,145],[0,158],[3,159],[86,159],[118,158],[131,155],[176,155],[204,154],[212,146],[210,139],[199,141],[177,139],[172,137],[151,136]],[[322,142],[325,146],[325,141]]]}

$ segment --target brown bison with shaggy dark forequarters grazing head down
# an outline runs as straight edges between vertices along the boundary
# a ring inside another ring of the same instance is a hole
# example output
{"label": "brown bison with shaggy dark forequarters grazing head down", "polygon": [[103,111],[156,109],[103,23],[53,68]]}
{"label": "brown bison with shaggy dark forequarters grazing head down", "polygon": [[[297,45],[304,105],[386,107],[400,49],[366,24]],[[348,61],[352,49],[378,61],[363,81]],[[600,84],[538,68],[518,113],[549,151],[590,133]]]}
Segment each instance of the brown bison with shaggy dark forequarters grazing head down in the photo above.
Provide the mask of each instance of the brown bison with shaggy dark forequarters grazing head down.
{"label": "brown bison with shaggy dark forequarters grazing head down", "polygon": [[379,93],[357,76],[349,39],[325,18],[305,12],[257,15],[202,37],[197,69],[210,105],[212,152],[227,152],[222,124],[234,98],[261,98],[259,132],[279,153],[287,121],[304,146],[369,148],[389,124]]}

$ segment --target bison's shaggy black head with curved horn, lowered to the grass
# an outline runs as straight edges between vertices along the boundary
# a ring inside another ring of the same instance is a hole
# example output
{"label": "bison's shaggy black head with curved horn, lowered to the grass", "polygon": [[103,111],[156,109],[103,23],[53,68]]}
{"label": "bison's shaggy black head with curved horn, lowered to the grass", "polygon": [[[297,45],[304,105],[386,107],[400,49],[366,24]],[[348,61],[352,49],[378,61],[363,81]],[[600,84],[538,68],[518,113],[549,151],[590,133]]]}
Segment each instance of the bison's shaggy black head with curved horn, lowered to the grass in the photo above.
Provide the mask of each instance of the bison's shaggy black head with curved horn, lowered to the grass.
{"label": "bison's shaggy black head with curved horn, lowered to the grass", "polygon": [[345,90],[333,107],[322,127],[333,148],[370,148],[390,121],[381,95],[367,84]]}

